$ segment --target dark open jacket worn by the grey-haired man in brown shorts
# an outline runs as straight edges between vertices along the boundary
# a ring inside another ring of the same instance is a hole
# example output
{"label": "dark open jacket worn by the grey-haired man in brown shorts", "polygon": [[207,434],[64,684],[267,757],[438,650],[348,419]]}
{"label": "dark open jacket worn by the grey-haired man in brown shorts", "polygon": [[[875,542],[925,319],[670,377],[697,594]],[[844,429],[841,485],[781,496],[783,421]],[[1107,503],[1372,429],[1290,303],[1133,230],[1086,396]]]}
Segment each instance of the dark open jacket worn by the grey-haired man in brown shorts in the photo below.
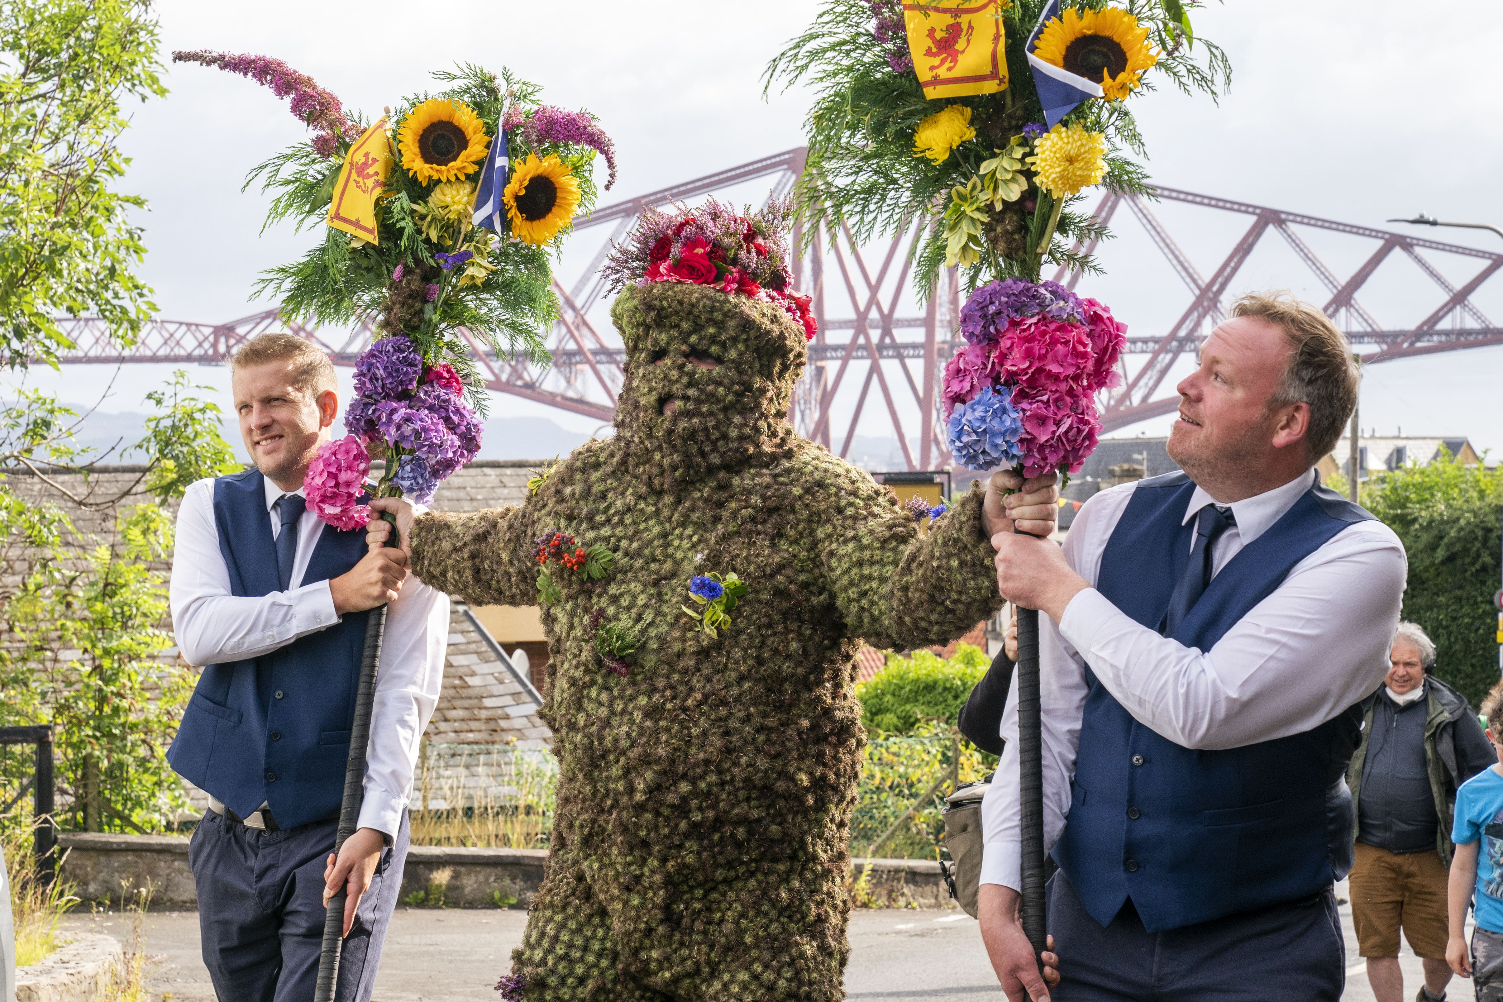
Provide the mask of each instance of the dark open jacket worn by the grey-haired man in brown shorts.
{"label": "dark open jacket worn by the grey-haired man in brown shorts", "polygon": [[[1362,780],[1368,762],[1368,745],[1372,739],[1374,718],[1380,718],[1378,700],[1386,699],[1383,690],[1362,700],[1362,741],[1351,756],[1347,769],[1347,786],[1362,817]],[[1416,712],[1416,711],[1410,711]],[[1450,865],[1450,825],[1456,808],[1456,789],[1497,762],[1497,753],[1471,706],[1456,690],[1435,676],[1425,678],[1425,766],[1429,774],[1431,796],[1435,802],[1435,852]],[[1362,831],[1359,825],[1359,834]]]}

